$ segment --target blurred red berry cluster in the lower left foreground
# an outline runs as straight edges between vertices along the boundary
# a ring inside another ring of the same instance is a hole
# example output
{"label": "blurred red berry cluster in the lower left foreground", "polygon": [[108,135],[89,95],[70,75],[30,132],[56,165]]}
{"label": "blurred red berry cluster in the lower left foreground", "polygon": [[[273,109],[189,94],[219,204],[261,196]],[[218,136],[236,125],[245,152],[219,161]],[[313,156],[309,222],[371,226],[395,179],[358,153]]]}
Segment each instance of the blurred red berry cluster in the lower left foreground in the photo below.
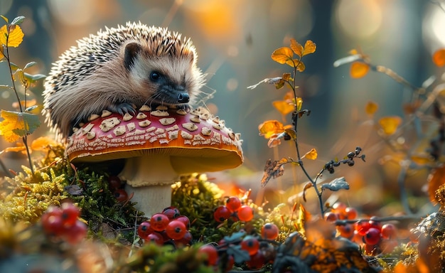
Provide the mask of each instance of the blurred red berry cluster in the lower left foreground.
{"label": "blurred red berry cluster in the lower left foreground", "polygon": [[50,206],[41,223],[46,234],[76,244],[87,235],[87,225],[78,220],[79,216],[80,210],[73,203],[63,203],[62,208]]}

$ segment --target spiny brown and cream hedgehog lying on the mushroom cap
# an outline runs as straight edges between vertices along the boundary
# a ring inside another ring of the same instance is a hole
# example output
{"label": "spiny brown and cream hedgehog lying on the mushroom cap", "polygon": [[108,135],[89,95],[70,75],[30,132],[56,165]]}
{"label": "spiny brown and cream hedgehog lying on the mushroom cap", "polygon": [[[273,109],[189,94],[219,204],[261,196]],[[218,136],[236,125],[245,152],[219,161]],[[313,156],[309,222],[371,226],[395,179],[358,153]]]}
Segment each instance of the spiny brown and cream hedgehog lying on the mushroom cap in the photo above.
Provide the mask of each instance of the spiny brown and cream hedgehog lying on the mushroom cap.
{"label": "spiny brown and cream hedgehog lying on the mushroom cap", "polygon": [[73,127],[103,110],[188,110],[205,83],[197,58],[192,41],[167,28],[129,22],[100,30],[53,63],[43,92],[45,121],[66,141]]}

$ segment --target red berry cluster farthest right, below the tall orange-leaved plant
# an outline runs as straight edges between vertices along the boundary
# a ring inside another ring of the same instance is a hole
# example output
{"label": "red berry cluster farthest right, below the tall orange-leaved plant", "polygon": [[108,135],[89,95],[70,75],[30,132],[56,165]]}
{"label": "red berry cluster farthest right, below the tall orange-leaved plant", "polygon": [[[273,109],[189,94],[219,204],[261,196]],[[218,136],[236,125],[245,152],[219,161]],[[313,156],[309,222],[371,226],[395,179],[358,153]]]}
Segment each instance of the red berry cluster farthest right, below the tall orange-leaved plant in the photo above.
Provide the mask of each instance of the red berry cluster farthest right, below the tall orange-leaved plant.
{"label": "red berry cluster farthest right, below the tall orange-leaved plant", "polygon": [[[324,218],[330,223],[336,223],[337,220],[355,220],[357,216],[355,208],[339,202],[332,206],[330,212],[325,213]],[[375,217],[358,220],[355,223],[342,223],[337,225],[336,229],[338,235],[363,245],[368,254],[392,252],[398,245],[395,225],[390,223],[382,225]]]}

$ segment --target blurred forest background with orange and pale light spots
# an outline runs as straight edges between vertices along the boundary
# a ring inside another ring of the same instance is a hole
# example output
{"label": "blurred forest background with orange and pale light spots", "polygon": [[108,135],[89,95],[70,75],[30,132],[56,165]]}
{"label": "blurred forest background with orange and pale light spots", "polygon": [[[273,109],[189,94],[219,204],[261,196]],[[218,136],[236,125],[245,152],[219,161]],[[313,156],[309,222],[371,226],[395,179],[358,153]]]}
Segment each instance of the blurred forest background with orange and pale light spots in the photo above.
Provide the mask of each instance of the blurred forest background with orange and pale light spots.
{"label": "blurred forest background with orange and pale light spots", "polygon": [[[252,188],[257,202],[262,202],[264,195],[267,200],[286,201],[301,190],[306,179],[298,168],[286,166],[284,177],[260,188],[267,159],[296,159],[296,152],[286,142],[269,149],[267,139],[259,137],[257,129],[267,119],[290,123],[289,117],[281,117],[272,107],[272,101],[282,100],[286,90],[275,90],[273,85],[249,90],[247,86],[291,72],[290,67],[270,58],[274,49],[289,46],[290,38],[301,44],[315,42],[316,53],[305,57],[306,71],[296,77],[303,107],[311,110],[311,115],[299,122],[301,151],[318,150],[318,159],[307,162],[306,167],[315,177],[326,161],[343,158],[355,146],[361,146],[366,163],[358,162],[353,168],[342,166],[325,179],[345,176],[351,190],[340,193],[341,198],[371,207],[378,206],[383,198],[397,200],[398,165],[378,164],[390,151],[375,128],[366,125],[365,103],[377,102],[376,118],[403,117],[403,102],[409,100],[411,92],[378,73],[353,80],[348,65],[334,68],[333,62],[348,55],[349,50],[360,48],[370,55],[372,63],[385,65],[420,86],[434,74],[431,54],[445,45],[444,8],[445,1],[439,0],[0,1],[0,14],[10,21],[26,16],[21,25],[24,41],[20,48],[11,50],[11,60],[22,67],[31,60],[38,62],[33,73],[48,75],[51,63],[63,51],[104,26],[141,21],[168,26],[190,37],[198,50],[198,65],[207,73],[203,91],[212,95],[205,104],[244,139],[244,166],[210,177],[230,182],[227,185]],[[0,84],[10,84],[5,63],[0,64]],[[42,85],[32,91],[41,103]],[[1,109],[11,109],[14,94],[1,90],[0,97]],[[48,129],[42,124],[31,137],[45,134]],[[0,145],[4,149],[11,144],[0,140]],[[1,174],[7,175],[8,168],[20,171],[25,160],[18,154],[3,154],[1,161],[6,168],[1,168]],[[407,188],[412,194],[424,195],[421,190],[426,178],[427,173],[412,173]]]}

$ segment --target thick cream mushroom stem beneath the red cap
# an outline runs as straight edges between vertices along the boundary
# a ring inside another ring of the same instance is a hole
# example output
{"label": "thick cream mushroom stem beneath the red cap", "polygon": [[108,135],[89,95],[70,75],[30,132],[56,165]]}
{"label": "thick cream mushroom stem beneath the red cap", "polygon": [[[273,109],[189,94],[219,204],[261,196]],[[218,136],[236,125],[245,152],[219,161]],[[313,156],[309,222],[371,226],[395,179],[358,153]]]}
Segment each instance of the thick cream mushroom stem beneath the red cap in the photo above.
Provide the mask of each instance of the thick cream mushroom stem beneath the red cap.
{"label": "thick cream mushroom stem beneath the red cap", "polygon": [[147,217],[171,205],[171,184],[178,174],[171,166],[170,156],[156,154],[127,159],[120,176],[127,180],[125,191],[133,196],[136,209]]}

